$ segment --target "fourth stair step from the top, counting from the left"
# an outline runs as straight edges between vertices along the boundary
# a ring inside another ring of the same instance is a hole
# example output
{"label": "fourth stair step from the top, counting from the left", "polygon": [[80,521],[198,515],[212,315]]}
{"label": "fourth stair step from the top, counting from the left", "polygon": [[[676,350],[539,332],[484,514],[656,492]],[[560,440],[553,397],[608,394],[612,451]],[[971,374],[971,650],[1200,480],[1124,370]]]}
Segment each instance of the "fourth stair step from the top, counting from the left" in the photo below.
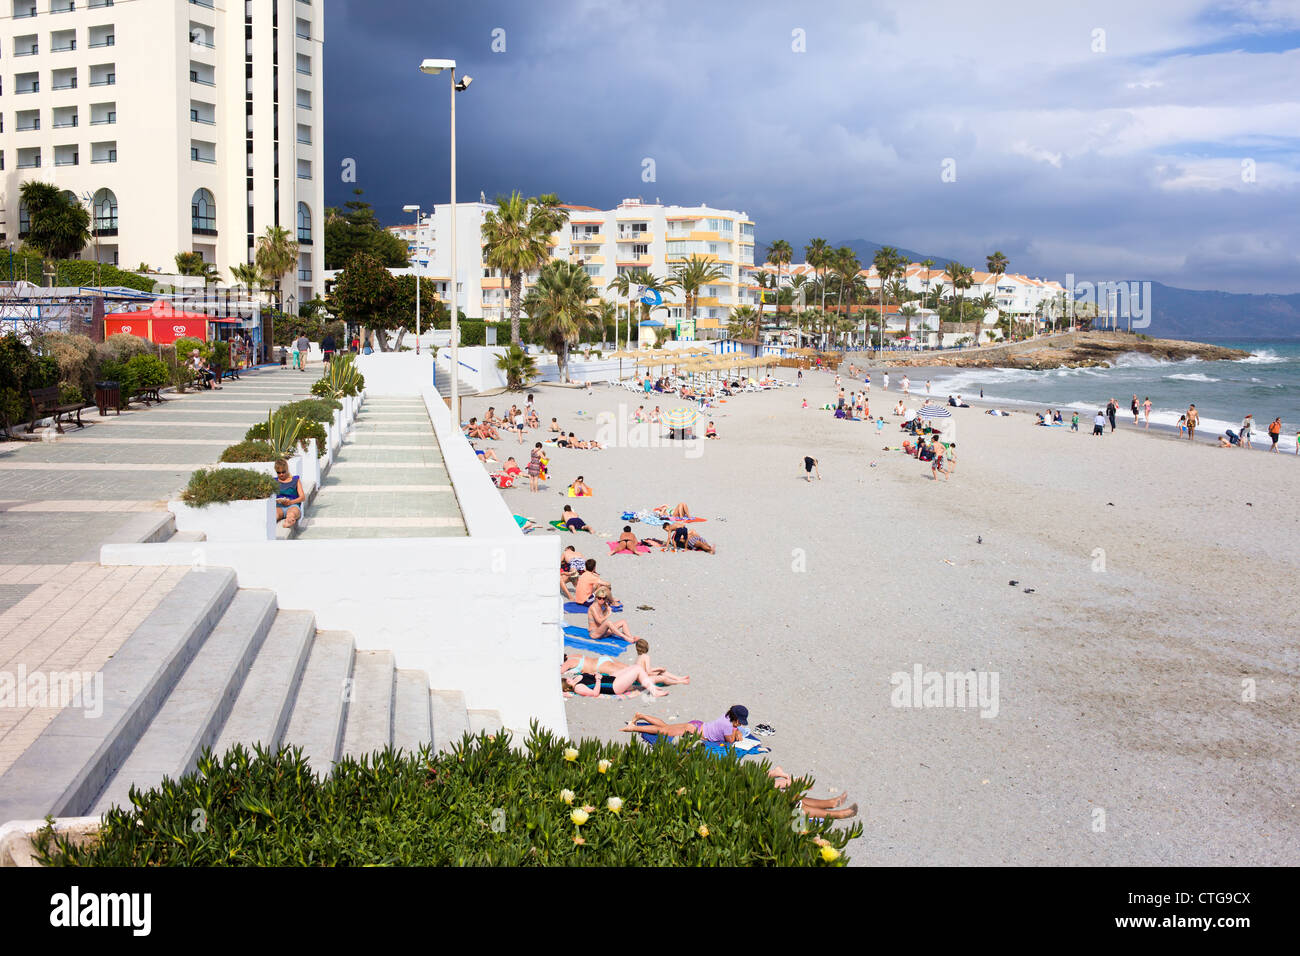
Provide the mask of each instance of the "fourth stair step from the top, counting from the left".
{"label": "fourth stair step from the top, counting from the left", "polygon": [[352,635],[317,631],[285,732],[286,747],[302,747],[316,774],[329,774],[338,760],[352,678]]}

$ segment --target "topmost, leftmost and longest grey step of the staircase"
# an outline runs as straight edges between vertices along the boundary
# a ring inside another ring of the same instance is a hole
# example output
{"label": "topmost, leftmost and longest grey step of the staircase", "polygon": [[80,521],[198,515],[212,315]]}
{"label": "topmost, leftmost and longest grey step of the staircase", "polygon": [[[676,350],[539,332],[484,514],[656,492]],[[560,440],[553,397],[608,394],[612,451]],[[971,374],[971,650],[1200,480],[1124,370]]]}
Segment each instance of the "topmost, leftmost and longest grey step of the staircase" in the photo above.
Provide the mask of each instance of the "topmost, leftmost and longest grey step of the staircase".
{"label": "topmost, leftmost and longest grey step of the staircase", "polygon": [[104,790],[235,594],[234,571],[190,571],[100,670],[104,713],[65,708],[0,777],[0,821],[79,817]]}

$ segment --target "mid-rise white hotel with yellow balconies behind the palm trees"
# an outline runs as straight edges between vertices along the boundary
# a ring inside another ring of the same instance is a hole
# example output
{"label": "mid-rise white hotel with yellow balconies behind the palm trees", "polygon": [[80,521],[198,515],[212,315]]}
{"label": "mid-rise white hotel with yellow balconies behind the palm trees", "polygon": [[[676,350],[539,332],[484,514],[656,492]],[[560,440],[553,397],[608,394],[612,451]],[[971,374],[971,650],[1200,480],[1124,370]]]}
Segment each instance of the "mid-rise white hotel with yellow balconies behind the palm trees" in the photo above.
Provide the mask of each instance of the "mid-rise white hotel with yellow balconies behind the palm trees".
{"label": "mid-rise white hotel with yellow balconies behind the palm trees", "polygon": [[[484,265],[482,224],[494,203],[458,204],[456,272],[459,304],[464,315],[502,320],[510,317],[510,277],[499,276]],[[751,282],[754,267],[754,221],[736,209],[710,206],[662,206],[640,199],[624,199],[614,209],[590,206],[566,206],[568,222],[554,234],[551,255],[580,263],[592,277],[592,285],[610,302],[625,303],[610,284],[619,273],[649,272],[658,278],[672,274],[673,268],[692,255],[718,264],[725,277],[699,290],[696,299],[697,336],[716,338],[727,326],[731,310],[757,304],[757,286]],[[421,216],[419,230],[393,226],[390,232],[407,241],[412,263],[432,278],[439,294],[446,295],[451,277],[450,206],[438,206]],[[537,273],[524,277],[524,291],[537,281]],[[655,319],[675,325],[685,316],[685,297],[680,290],[664,297],[666,312]]]}

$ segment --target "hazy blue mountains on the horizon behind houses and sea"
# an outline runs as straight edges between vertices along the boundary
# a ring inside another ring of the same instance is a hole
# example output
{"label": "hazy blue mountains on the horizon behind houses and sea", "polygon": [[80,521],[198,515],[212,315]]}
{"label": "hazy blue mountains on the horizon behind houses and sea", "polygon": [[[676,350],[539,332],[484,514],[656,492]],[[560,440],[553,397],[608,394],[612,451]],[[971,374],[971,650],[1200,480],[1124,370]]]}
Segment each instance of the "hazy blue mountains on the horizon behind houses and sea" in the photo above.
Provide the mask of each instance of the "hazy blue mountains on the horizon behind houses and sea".
{"label": "hazy blue mountains on the horizon behind houses and sea", "polygon": [[[793,243],[792,243],[793,245]],[[879,242],[867,239],[846,239],[832,242],[832,248],[848,246],[863,267],[871,264],[871,258],[881,248]],[[907,261],[919,263],[935,260],[935,268],[942,268],[953,256],[916,252],[898,248]],[[767,259],[767,247],[757,243],[754,261]],[[794,247],[796,261],[803,260],[803,246]],[[983,269],[984,263],[971,263]],[[1135,280],[1127,280],[1134,282]],[[1124,320],[1119,321],[1121,328]],[[1287,295],[1277,293],[1221,293],[1214,290],[1179,289],[1164,282],[1150,282],[1150,326],[1147,334],[1158,338],[1191,339],[1242,339],[1242,338],[1300,338],[1300,293]]]}

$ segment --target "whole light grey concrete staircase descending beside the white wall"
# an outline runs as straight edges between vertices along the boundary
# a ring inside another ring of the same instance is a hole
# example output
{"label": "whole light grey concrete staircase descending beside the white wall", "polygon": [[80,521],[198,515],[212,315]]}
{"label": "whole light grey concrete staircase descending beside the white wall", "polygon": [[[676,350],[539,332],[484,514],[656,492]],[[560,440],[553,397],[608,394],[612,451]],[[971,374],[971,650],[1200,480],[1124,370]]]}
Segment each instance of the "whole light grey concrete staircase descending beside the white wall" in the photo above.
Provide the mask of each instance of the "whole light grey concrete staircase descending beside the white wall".
{"label": "whole light grey concrete staircase descending beside the white wall", "polygon": [[302,747],[329,774],[389,744],[441,750],[502,727],[391,653],[358,650],[273,592],[238,588],[229,568],[186,574],[101,674],[103,714],[65,708],[0,777],[0,823],[129,806],[131,786],[182,777],[204,747]]}

